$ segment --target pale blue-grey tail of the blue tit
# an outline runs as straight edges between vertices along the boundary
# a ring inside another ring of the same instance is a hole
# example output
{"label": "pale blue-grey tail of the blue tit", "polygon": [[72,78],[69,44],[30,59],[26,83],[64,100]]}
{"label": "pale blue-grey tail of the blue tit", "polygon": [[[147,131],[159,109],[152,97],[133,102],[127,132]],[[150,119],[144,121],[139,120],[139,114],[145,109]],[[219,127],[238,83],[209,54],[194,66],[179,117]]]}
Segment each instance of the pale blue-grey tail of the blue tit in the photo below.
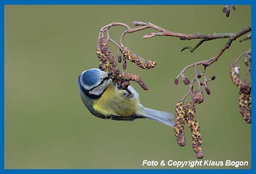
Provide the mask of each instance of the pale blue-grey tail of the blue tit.
{"label": "pale blue-grey tail of the blue tit", "polygon": [[[142,109],[142,108],[141,108]],[[154,109],[143,108],[143,117],[151,120],[156,120],[160,123],[166,124],[170,127],[174,127],[175,121],[173,121],[173,114],[164,111],[157,111]]]}

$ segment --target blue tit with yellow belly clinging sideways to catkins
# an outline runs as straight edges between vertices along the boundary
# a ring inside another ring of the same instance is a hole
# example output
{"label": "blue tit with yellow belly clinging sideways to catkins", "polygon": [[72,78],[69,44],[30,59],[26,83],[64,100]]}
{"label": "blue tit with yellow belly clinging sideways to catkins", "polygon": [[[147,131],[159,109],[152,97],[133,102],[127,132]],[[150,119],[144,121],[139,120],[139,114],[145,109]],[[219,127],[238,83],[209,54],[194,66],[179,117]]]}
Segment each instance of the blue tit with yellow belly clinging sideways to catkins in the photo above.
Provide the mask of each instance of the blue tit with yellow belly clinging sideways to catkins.
{"label": "blue tit with yellow belly clinging sideways to catkins", "polygon": [[143,107],[139,94],[130,85],[128,90],[118,90],[111,73],[99,69],[83,71],[78,85],[84,105],[96,117],[122,121],[148,118],[170,127],[175,124],[173,114]]}

